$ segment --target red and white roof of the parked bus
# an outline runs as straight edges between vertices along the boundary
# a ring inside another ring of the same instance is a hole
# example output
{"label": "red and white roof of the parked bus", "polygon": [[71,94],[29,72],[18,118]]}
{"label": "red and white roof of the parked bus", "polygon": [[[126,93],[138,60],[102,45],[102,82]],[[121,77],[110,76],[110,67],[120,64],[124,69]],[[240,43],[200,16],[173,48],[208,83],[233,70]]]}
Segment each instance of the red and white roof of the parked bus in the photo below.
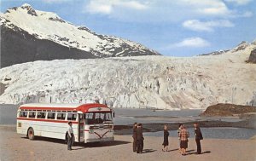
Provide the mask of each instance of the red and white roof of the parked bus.
{"label": "red and white roof of the parked bus", "polygon": [[61,103],[29,103],[20,106],[21,110],[54,110],[54,111],[80,111],[88,112],[90,108],[104,107],[102,111],[111,112],[111,109],[107,105],[99,103],[89,104],[61,104]]}

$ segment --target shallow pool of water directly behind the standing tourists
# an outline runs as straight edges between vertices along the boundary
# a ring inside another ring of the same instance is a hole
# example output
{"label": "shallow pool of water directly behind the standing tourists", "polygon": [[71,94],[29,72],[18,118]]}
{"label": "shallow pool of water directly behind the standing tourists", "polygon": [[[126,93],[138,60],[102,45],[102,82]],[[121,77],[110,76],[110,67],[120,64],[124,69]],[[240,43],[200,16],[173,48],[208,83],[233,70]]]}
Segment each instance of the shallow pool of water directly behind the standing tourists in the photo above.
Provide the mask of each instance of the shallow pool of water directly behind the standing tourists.
{"label": "shallow pool of water directly behind the standing tourists", "polygon": [[[177,137],[177,130],[171,130],[170,136]],[[256,135],[256,129],[245,128],[201,128],[204,139],[217,138],[217,139],[249,139]],[[163,137],[163,131],[146,132],[145,136]],[[190,138],[195,138],[194,128],[189,128]]]}

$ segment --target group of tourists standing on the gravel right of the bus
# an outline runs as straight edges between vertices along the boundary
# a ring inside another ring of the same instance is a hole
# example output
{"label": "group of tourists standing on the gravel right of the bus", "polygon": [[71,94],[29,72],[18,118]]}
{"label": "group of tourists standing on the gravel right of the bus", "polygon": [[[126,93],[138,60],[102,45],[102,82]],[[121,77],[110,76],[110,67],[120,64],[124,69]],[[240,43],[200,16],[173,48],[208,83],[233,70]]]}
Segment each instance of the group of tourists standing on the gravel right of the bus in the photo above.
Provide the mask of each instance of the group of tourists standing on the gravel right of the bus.
{"label": "group of tourists standing on the gravel right of the bus", "polygon": [[[199,127],[198,123],[194,123],[195,128],[195,142],[197,151],[196,154],[201,154],[201,140],[203,139],[203,136],[201,134],[201,129]],[[189,142],[189,131],[188,129],[183,125],[179,124],[177,129],[177,136],[179,139],[179,152],[184,156],[186,155],[186,150],[188,148],[188,142]],[[143,153],[143,128],[142,124],[135,123],[133,126],[133,152],[137,153]],[[169,146],[169,131],[168,126],[164,125],[164,141],[163,141],[163,152],[168,152],[168,146]]]}

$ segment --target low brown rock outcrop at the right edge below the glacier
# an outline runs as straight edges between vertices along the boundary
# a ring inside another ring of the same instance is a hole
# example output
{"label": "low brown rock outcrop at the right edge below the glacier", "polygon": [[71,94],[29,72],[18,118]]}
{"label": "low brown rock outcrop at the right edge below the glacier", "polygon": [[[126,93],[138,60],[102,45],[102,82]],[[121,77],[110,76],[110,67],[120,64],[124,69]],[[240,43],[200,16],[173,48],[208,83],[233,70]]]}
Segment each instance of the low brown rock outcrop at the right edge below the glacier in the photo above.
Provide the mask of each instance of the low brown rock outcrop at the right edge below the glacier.
{"label": "low brown rock outcrop at the right edge below the glacier", "polygon": [[201,113],[201,116],[227,117],[249,112],[256,112],[256,106],[242,106],[219,103],[217,105],[208,106],[207,110]]}

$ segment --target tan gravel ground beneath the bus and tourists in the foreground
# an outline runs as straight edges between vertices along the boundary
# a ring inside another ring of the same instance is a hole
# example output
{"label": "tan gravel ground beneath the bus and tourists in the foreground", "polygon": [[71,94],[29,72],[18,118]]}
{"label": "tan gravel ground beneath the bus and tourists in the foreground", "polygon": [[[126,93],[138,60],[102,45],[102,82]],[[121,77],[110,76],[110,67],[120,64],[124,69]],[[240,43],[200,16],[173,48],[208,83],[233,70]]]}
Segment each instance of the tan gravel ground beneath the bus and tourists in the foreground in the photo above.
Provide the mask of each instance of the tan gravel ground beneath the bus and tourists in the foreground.
{"label": "tan gravel ground beneath the bus and tourists in the foreground", "polygon": [[38,137],[29,141],[18,135],[13,126],[0,126],[0,160],[196,160],[196,161],[255,161],[255,140],[207,139],[202,141],[201,155],[195,155],[195,141],[189,140],[189,152],[182,156],[177,151],[178,141],[169,138],[171,152],[161,152],[161,137],[146,136],[144,153],[131,152],[131,136],[115,135],[115,141],[100,144],[79,144],[67,151],[64,141]]}

